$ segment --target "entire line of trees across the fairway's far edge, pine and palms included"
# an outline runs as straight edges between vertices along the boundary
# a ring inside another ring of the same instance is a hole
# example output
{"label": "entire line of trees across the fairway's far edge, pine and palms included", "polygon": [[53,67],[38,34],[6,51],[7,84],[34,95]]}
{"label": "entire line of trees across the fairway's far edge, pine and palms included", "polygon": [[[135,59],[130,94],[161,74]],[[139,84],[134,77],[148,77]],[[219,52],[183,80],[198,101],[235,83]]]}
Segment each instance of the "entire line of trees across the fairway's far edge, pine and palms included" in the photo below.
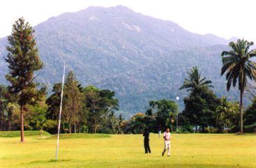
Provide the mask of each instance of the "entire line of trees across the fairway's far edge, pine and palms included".
{"label": "entire line of trees across the fairway's far edge, pine and palms included", "polygon": [[[24,142],[24,129],[47,130],[56,133],[61,83],[53,85],[52,95],[47,97],[45,84],[36,82],[34,72],[43,68],[40,60],[34,30],[23,18],[13,24],[8,36],[8,55],[5,57],[9,72],[8,86],[0,86],[0,130],[18,130]],[[243,112],[243,96],[248,89],[248,79],[256,79],[256,66],[251,58],[256,50],[250,50],[253,42],[237,40],[231,42],[230,51],[221,54],[223,68],[220,75],[226,74],[227,91],[239,85],[240,102],[230,102],[226,97],[217,98],[211,88],[211,80],[202,77],[198,67],[188,72],[179,88],[188,91],[184,98],[185,109],[178,113],[178,105],[172,100],[151,100],[145,112],[134,114],[129,120],[116,116],[119,101],[114,91],[98,89],[96,86],[81,86],[73,71],[68,72],[64,84],[63,115],[61,131],[68,133],[141,133],[149,127],[151,132],[162,129],[176,129],[179,132],[252,132],[256,125],[255,95],[252,105]],[[253,87],[248,89],[253,93]],[[244,125],[246,124],[246,126]]]}

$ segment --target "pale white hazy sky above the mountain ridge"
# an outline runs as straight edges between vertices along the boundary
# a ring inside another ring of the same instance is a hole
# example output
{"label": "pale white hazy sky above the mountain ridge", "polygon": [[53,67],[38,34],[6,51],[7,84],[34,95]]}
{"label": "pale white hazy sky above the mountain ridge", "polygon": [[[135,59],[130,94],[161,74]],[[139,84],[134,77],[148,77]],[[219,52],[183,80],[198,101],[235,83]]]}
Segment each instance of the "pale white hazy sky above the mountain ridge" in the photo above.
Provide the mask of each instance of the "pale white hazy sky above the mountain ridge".
{"label": "pale white hazy sky above the mountain ridge", "polygon": [[49,17],[89,6],[123,5],[144,15],[176,22],[194,33],[246,38],[256,43],[253,0],[1,0],[0,37],[10,34],[17,17],[36,26]]}

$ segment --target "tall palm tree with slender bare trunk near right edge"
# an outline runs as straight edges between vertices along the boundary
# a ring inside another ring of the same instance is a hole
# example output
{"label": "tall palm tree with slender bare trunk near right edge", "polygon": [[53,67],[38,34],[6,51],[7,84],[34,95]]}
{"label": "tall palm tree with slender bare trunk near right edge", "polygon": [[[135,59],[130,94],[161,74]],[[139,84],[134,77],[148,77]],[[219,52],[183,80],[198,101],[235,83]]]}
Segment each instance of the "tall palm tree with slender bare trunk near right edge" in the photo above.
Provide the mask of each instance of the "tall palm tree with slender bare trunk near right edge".
{"label": "tall palm tree with slender bare trunk near right edge", "polygon": [[229,91],[231,84],[236,86],[239,83],[240,91],[240,133],[243,134],[243,93],[246,89],[247,77],[249,79],[256,79],[256,64],[249,59],[256,56],[256,49],[248,49],[253,45],[253,42],[238,39],[237,43],[230,42],[230,51],[223,51],[221,56],[223,59],[223,67],[221,68],[221,76],[227,72],[227,91]]}

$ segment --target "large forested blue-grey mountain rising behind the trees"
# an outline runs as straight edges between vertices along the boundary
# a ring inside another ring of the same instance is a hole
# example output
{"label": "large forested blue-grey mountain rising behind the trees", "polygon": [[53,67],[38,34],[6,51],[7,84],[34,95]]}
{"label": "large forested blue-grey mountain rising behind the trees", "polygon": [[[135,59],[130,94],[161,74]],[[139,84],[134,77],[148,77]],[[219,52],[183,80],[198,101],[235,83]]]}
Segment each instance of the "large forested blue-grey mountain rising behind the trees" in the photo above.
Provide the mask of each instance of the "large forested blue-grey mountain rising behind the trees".
{"label": "large forested blue-grey mountain rising behind the trees", "polygon": [[[124,6],[63,13],[34,29],[45,63],[38,81],[48,86],[61,82],[66,61],[67,69],[73,70],[83,85],[114,90],[121,110],[144,112],[148,100],[187,96],[179,86],[190,67],[200,66],[218,96],[227,95],[225,79],[220,77],[220,53],[228,49],[229,40],[213,34],[191,33],[174,22]],[[6,38],[1,38],[0,58],[6,56],[6,45]],[[0,79],[6,82],[8,68],[3,59],[0,66]],[[229,96],[236,94],[232,91]]]}

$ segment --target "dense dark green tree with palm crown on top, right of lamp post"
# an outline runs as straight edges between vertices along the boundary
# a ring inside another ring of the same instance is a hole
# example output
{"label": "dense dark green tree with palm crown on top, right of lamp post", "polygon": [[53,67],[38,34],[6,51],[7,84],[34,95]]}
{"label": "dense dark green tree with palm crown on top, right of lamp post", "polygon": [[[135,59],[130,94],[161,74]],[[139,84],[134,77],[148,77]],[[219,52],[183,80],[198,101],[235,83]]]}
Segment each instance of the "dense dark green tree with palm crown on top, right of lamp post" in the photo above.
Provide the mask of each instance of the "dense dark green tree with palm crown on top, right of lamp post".
{"label": "dense dark green tree with palm crown on top, right of lamp post", "polygon": [[204,128],[215,126],[213,113],[218,106],[217,96],[209,89],[213,87],[211,80],[201,77],[201,72],[197,67],[193,67],[188,72],[188,79],[185,78],[180,89],[187,89],[190,95],[184,98],[185,109],[182,116],[188,119],[188,123],[197,130],[197,125],[204,132]]}

